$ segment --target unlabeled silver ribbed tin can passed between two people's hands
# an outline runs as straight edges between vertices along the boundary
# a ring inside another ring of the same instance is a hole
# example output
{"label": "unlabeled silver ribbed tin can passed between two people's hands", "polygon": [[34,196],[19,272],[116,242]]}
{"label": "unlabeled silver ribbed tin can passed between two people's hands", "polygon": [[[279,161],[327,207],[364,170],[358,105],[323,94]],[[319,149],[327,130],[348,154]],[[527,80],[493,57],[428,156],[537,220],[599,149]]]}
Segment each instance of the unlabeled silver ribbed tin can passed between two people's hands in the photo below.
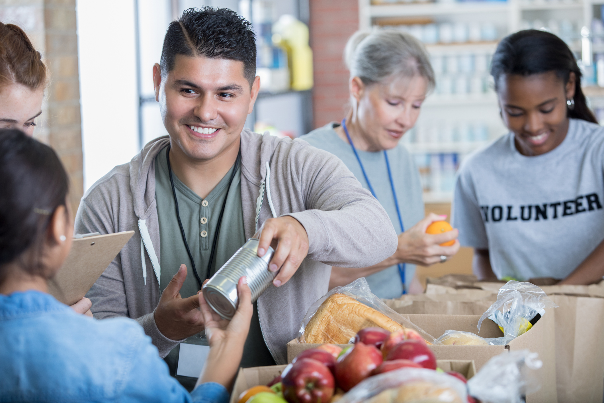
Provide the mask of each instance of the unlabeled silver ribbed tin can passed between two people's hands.
{"label": "unlabeled silver ribbed tin can passed between two people's hands", "polygon": [[202,288],[205,301],[222,318],[230,320],[237,310],[237,282],[241,277],[247,277],[253,303],[277,276],[268,269],[275,251],[268,247],[265,256],[259,257],[258,243],[255,238],[248,239]]}

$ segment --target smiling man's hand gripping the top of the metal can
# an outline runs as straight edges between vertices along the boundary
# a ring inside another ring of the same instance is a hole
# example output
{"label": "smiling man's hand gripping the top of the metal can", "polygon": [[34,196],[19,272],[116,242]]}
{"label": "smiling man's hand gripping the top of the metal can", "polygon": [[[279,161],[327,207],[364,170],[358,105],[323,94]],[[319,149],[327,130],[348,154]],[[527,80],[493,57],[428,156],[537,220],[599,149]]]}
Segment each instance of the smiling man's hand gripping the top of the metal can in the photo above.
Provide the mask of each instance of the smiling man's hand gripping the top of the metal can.
{"label": "smiling man's hand gripping the top of the metal can", "polygon": [[269,218],[259,232],[258,256],[264,256],[269,246],[275,250],[268,269],[273,272],[279,270],[272,280],[278,287],[294,276],[308,254],[308,234],[302,224],[290,216]]}

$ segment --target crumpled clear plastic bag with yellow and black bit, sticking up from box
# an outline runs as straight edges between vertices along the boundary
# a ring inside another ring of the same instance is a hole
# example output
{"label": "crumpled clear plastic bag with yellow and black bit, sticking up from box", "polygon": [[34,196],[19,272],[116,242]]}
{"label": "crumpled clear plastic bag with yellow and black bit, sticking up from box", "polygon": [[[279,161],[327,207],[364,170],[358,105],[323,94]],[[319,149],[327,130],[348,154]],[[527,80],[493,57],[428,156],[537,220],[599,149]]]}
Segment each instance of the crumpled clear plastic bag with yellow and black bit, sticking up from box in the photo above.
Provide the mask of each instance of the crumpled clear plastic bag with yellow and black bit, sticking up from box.
{"label": "crumpled clear plastic bag with yellow and black bit, sticking up from box", "polygon": [[531,283],[510,280],[500,288],[497,300],[478,321],[478,331],[485,318],[499,325],[504,337],[518,337],[529,330],[545,314],[557,308],[541,288]]}

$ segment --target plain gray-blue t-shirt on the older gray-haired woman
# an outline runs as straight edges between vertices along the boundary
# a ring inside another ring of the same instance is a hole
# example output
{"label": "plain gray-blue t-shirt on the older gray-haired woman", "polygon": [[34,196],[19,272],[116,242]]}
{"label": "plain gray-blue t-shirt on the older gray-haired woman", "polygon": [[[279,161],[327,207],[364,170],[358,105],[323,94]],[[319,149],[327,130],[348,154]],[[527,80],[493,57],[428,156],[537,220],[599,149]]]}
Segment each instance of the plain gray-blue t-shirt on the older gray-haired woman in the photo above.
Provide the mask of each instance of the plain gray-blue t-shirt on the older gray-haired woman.
{"label": "plain gray-blue t-shirt on the older gray-haired woman", "polygon": [[[337,126],[339,126],[339,123],[332,122],[326,124],[302,136],[301,139],[308,141],[311,146],[335,154],[356,176],[361,185],[365,189],[369,189],[359,162],[352,151],[352,147],[339,138],[338,134],[333,130]],[[357,152],[365,167],[365,172],[367,172],[371,186],[374,192],[376,192],[377,199],[388,213],[394,230],[400,233],[399,216],[396,213],[390,179],[388,179],[384,152],[366,152],[361,150],[357,150]],[[415,166],[413,158],[402,144],[399,143],[387,152],[394,181],[394,189],[399,201],[401,218],[405,230],[408,230],[424,216],[422,184],[420,182],[419,171]],[[359,217],[359,219],[362,220],[363,218]],[[359,234],[359,236],[362,237],[362,234]],[[405,283],[407,286],[411,284],[414,274],[415,265],[406,264]],[[371,276],[367,277],[367,282],[369,283],[371,292],[380,298],[398,298],[402,294],[402,282],[400,281],[398,266],[390,266],[380,272],[371,274]]]}

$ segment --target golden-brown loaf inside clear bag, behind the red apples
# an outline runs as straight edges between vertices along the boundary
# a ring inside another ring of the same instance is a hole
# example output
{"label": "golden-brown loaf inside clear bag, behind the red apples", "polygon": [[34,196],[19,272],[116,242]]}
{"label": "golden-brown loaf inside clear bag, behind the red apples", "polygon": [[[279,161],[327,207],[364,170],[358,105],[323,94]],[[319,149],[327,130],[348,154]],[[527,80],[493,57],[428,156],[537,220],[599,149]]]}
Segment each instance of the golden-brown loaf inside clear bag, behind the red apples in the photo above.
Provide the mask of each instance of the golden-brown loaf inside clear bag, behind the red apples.
{"label": "golden-brown loaf inside clear bag, behind the red apples", "polygon": [[344,294],[327,298],[304,328],[306,343],[346,344],[365,327],[382,327],[396,332],[403,326],[391,318]]}

